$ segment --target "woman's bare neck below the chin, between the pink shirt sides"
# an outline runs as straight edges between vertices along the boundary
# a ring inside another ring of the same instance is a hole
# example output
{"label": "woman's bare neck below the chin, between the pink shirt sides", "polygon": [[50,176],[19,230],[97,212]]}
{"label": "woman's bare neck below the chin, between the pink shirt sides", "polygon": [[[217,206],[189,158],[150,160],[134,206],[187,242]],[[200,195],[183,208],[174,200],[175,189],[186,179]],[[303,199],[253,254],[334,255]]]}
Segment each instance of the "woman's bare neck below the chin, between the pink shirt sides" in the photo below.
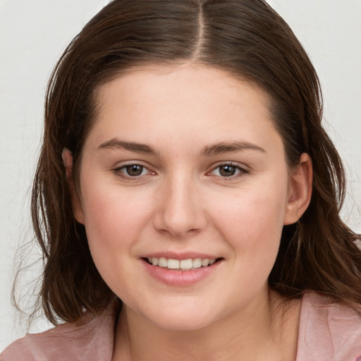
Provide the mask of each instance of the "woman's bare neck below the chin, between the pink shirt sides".
{"label": "woman's bare neck below the chin, between the pink shirt sides", "polygon": [[123,307],[113,361],[295,360],[300,300],[274,292],[257,310],[242,310],[197,330],[169,330]]}

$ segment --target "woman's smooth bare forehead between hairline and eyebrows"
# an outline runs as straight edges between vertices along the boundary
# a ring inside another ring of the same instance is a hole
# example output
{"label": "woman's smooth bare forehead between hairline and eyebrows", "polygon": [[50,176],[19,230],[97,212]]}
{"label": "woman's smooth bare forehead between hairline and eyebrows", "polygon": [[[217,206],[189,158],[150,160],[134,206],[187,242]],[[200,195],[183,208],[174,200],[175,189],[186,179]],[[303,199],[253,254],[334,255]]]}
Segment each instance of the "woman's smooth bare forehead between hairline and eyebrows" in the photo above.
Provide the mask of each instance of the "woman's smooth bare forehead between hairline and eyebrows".
{"label": "woman's smooth bare forehead between hairline and eyebrows", "polygon": [[100,86],[96,104],[91,136],[97,142],[118,136],[154,145],[190,139],[201,145],[233,137],[267,142],[262,137],[276,131],[267,93],[209,66],[133,69]]}

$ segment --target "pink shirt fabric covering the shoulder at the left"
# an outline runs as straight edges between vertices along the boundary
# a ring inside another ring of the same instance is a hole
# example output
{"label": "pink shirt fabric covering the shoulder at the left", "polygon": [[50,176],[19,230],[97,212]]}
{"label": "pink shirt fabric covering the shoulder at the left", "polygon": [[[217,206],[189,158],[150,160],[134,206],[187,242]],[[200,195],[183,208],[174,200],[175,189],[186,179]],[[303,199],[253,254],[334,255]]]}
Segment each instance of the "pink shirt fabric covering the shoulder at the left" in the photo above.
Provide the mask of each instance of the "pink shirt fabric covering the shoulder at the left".
{"label": "pink shirt fabric covering the shoulder at the left", "polygon": [[112,304],[98,316],[85,314],[81,323],[27,334],[11,343],[0,361],[110,361],[117,311],[118,304]]}

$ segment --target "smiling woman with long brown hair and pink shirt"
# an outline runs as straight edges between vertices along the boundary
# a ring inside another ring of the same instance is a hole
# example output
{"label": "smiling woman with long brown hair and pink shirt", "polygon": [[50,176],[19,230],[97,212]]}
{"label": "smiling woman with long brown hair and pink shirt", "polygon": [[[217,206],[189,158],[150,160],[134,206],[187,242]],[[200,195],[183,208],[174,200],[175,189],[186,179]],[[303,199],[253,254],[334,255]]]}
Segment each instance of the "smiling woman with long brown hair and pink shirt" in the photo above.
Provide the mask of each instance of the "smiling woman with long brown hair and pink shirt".
{"label": "smiling woman with long brown hair and pink shirt", "polygon": [[42,305],[67,323],[3,360],[361,357],[359,236],[321,120],[264,1],[112,1],[52,75],[32,194]]}

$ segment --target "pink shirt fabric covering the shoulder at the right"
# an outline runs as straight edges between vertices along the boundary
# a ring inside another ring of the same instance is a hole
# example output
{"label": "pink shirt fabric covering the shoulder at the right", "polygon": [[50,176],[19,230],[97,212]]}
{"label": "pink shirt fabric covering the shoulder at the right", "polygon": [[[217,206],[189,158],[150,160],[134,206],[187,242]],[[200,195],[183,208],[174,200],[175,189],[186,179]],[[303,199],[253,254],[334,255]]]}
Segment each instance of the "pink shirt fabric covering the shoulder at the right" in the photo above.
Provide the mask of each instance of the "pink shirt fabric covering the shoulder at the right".
{"label": "pink shirt fabric covering the shoulder at the right", "polygon": [[361,361],[361,314],[317,293],[302,298],[297,361]]}

